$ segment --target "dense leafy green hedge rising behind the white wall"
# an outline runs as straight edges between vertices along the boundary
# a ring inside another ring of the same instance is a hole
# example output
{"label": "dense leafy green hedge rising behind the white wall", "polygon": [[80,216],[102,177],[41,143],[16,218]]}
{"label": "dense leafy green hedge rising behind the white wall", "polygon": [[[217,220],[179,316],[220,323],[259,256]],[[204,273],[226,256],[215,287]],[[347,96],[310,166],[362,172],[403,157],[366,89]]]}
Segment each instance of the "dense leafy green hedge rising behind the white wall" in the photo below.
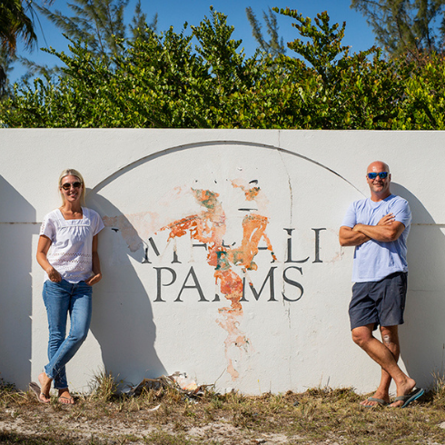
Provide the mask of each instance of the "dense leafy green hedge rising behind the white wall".
{"label": "dense leafy green hedge rising behind the white wall", "polygon": [[[277,10],[278,12],[278,10]],[[445,129],[445,61],[350,54],[344,24],[284,9],[293,54],[246,57],[213,9],[200,25],[126,39],[110,60],[72,42],[63,75],[15,88],[0,125],[15,127]],[[196,45],[193,46],[193,42]]]}

